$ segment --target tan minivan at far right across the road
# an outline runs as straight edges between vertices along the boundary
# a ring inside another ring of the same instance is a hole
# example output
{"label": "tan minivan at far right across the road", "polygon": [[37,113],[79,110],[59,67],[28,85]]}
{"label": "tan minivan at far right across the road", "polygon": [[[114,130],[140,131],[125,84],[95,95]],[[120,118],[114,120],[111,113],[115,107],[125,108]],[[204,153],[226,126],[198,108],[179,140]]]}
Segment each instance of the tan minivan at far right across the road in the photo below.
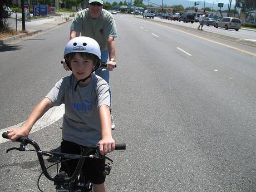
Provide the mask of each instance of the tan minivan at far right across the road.
{"label": "tan minivan at far right across the road", "polygon": [[238,31],[241,28],[241,21],[239,18],[223,17],[215,23],[215,27],[224,27],[226,30],[235,29],[235,31]]}

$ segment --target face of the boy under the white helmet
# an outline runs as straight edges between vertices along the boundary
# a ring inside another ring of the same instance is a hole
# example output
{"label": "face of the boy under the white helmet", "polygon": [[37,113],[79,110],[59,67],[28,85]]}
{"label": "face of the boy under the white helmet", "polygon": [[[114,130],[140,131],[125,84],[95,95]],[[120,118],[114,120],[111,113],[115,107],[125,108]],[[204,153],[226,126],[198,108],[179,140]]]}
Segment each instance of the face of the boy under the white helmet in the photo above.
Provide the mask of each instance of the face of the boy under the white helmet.
{"label": "face of the boy under the white helmet", "polygon": [[79,53],[75,53],[70,63],[77,81],[89,76],[94,67],[91,58],[82,57]]}

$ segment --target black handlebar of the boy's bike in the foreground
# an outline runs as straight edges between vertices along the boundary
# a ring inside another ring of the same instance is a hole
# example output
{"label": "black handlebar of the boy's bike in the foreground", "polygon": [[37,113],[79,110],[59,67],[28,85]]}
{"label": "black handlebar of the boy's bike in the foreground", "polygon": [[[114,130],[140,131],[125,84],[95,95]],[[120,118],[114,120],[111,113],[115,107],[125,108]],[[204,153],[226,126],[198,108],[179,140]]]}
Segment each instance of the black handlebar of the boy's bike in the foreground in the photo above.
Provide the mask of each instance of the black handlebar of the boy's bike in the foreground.
{"label": "black handlebar of the boy's bike in the foreground", "polygon": [[[7,132],[3,132],[2,137],[5,138],[5,139],[9,139],[9,137],[7,135]],[[96,150],[99,153],[99,149],[98,149],[99,146],[97,146],[97,145],[87,147],[87,149],[85,151],[83,151],[82,154],[79,156],[79,155],[74,155],[74,154],[63,154],[63,153],[57,153],[57,152],[55,152],[53,154],[53,152],[41,151],[40,147],[38,146],[36,141],[33,141],[33,140],[29,139],[28,137],[19,137],[16,141],[21,142],[21,147],[19,148],[21,150],[25,150],[24,146],[26,146],[27,144],[31,144],[33,147],[35,147],[36,152],[37,152],[37,157],[38,157],[39,163],[41,165],[43,174],[46,176],[47,179],[49,179],[51,181],[56,181],[56,179],[55,179],[55,177],[51,176],[48,173],[48,171],[46,169],[46,166],[45,166],[45,161],[43,160],[43,155],[48,155],[48,156],[55,155],[55,156],[57,156],[57,154],[60,154],[62,156],[70,156],[70,157],[79,157],[80,158],[80,157],[86,156],[88,154],[88,152],[91,151],[91,150]],[[12,149],[18,149],[18,148],[12,148]],[[9,150],[12,150],[12,149],[9,149]],[[125,149],[126,149],[125,144],[116,144],[115,145],[115,150],[125,150]],[[9,150],[7,150],[6,152],[8,152]],[[99,156],[100,156],[100,154],[99,154]],[[73,181],[75,181],[77,176],[80,174],[80,170],[82,168],[82,165],[83,165],[84,161],[85,161],[85,158],[80,158],[79,161],[78,161],[75,173],[73,173],[73,175],[71,177],[65,178],[63,181],[58,180],[58,182],[73,182]]]}

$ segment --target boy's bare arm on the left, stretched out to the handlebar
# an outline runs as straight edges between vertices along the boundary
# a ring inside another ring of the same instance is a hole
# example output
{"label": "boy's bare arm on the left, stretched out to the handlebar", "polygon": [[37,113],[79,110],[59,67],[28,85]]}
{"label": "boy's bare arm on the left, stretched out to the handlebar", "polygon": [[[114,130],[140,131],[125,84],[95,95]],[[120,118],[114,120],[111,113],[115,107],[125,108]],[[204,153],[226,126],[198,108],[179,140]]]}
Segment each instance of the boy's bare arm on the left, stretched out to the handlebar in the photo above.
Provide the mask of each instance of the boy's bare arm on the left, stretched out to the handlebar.
{"label": "boy's bare arm on the left, stretched out to the handlebar", "polygon": [[45,114],[53,106],[53,103],[50,99],[44,98],[29,115],[27,121],[18,129],[10,129],[7,131],[9,139],[12,141],[18,139],[19,137],[27,137],[31,131],[33,125],[36,123],[40,117]]}

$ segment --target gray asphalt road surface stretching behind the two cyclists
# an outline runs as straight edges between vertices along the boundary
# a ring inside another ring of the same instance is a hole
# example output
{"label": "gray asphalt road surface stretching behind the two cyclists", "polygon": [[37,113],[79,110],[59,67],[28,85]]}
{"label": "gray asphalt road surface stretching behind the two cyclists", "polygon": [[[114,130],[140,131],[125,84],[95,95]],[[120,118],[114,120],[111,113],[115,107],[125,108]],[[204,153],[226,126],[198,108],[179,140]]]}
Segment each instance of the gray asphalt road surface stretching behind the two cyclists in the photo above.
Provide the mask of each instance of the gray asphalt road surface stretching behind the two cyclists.
{"label": "gray asphalt road surface stretching behind the two cyclists", "polygon": [[[129,15],[114,16],[111,72],[116,142],[108,191],[256,191],[253,46]],[[70,23],[1,47],[2,129],[26,120],[61,76]],[[5,50],[5,51],[4,51]],[[42,149],[61,140],[61,119],[30,137]],[[32,152],[0,150],[0,190],[37,191]],[[53,191],[46,179],[45,191]]]}

